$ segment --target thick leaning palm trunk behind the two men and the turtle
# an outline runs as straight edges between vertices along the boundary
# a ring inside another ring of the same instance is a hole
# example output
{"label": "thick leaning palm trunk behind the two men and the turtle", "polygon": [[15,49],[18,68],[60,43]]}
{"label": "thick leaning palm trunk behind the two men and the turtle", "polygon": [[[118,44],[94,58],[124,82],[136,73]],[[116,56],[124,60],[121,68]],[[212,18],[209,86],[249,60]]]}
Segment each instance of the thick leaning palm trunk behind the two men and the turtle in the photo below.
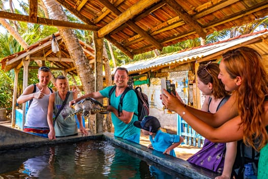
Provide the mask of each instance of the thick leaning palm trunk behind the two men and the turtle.
{"label": "thick leaning palm trunk behind the two men and the turtle", "polygon": [[[43,2],[47,8],[48,14],[50,14],[50,18],[68,21],[62,7],[57,2],[54,0],[43,0]],[[94,92],[94,74],[76,34],[68,28],[58,28],[58,30],[66,44],[70,57],[74,61],[85,93]]]}

